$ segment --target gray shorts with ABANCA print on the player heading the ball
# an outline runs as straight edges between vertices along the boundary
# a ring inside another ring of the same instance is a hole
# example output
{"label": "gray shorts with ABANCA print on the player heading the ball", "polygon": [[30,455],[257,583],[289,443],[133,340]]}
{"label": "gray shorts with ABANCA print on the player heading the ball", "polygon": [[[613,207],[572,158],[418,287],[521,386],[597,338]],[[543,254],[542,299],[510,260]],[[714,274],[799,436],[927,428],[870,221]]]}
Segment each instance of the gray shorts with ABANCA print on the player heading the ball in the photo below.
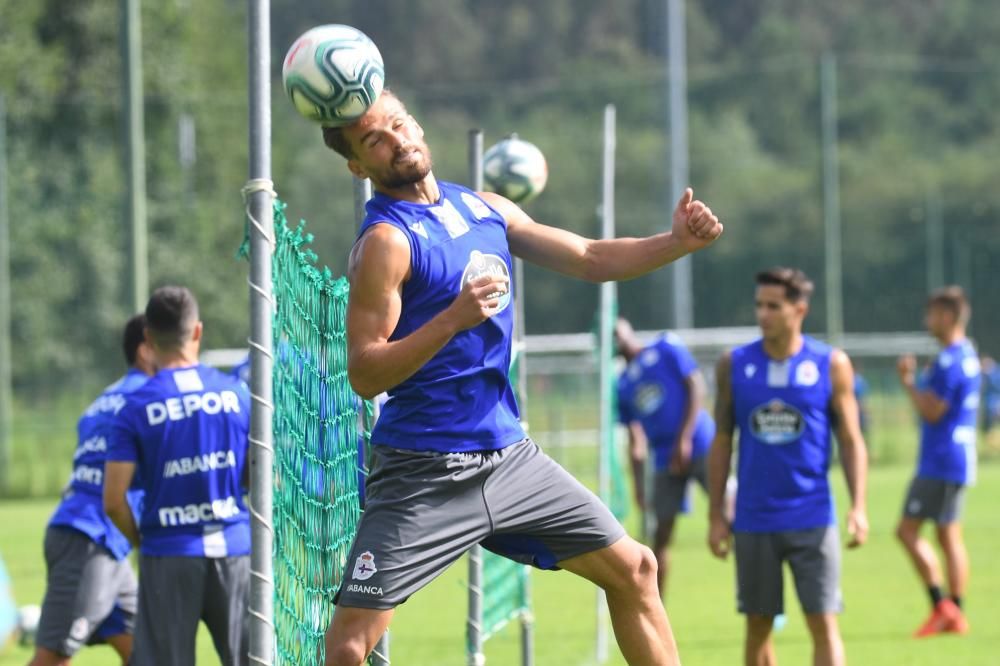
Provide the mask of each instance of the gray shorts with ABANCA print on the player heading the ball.
{"label": "gray shorts with ABANCA print on the player heading the ball", "polygon": [[554,569],[625,536],[597,496],[531,440],[475,453],[375,446],[371,470],[341,606],[394,608],[478,543]]}

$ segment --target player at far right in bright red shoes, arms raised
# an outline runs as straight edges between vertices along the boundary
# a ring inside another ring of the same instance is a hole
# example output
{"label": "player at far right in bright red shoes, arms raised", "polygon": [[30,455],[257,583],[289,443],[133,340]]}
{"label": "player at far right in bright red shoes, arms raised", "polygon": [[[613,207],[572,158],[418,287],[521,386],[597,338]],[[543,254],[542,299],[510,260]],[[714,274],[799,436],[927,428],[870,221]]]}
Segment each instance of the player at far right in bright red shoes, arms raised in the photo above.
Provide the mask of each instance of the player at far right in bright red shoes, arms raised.
{"label": "player at far right in bright red shoes, arms raised", "polygon": [[[979,411],[979,357],[965,337],[971,309],[961,287],[945,287],[927,301],[927,330],[941,343],[937,358],[917,377],[913,356],[899,359],[899,378],[920,415],[920,459],[896,528],[931,599],[931,615],[915,636],[965,633],[962,596],[969,556],[962,539],[962,501],[976,478],[976,417]],[[950,598],[942,592],[941,565],[920,536],[925,521],[937,528],[944,553]]]}

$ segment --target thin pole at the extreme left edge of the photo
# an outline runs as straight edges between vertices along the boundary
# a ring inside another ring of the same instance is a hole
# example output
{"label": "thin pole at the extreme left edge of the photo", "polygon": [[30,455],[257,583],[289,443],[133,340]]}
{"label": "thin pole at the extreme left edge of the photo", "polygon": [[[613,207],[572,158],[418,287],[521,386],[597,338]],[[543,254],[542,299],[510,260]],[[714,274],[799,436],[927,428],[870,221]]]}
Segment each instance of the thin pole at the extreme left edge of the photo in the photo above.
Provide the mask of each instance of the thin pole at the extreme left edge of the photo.
{"label": "thin pole at the extreme left edge of the photo", "polygon": [[7,110],[0,95],[0,497],[10,483],[14,387],[10,369],[10,206],[7,184]]}

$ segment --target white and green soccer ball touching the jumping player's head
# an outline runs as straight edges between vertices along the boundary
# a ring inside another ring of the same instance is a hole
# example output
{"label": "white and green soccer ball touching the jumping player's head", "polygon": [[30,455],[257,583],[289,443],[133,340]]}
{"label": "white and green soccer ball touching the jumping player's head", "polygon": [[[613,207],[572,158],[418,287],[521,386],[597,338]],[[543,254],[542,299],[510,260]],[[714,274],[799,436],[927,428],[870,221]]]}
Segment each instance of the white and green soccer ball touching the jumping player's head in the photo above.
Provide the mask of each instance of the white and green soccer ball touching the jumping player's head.
{"label": "white and green soccer ball touching the jumping player's head", "polygon": [[281,68],[299,113],[321,125],[349,125],[382,93],[385,68],[375,42],[349,25],[321,25],[295,40]]}

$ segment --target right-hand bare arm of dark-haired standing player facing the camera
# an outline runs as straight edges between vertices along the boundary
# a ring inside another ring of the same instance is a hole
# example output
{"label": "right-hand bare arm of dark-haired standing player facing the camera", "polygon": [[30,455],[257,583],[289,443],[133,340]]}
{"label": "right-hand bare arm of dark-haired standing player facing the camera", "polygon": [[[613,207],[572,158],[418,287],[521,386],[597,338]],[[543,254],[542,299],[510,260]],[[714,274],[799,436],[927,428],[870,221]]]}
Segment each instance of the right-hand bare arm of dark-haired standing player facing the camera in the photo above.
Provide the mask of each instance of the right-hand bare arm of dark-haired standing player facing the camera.
{"label": "right-hand bare arm of dark-haired standing player facing the camera", "polygon": [[837,416],[837,441],[847,480],[851,507],[847,512],[848,548],[856,548],[868,538],[867,487],[868,450],[861,434],[858,401],[854,396],[854,368],[851,359],[836,349],[830,357],[833,395],[830,407]]}

